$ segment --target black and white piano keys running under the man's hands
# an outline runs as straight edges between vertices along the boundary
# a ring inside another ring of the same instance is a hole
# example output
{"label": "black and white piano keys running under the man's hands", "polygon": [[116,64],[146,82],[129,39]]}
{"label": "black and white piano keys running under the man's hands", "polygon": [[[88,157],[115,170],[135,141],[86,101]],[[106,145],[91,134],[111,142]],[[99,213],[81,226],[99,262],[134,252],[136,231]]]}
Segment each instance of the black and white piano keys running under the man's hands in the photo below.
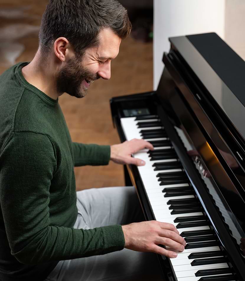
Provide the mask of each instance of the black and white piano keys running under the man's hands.
{"label": "black and white piano keys running under the man's hands", "polygon": [[170,259],[178,281],[235,281],[210,222],[195,196],[166,131],[156,115],[121,118],[125,138],[144,139],[154,146],[134,154],[154,217],[169,222],[186,240],[183,252]]}

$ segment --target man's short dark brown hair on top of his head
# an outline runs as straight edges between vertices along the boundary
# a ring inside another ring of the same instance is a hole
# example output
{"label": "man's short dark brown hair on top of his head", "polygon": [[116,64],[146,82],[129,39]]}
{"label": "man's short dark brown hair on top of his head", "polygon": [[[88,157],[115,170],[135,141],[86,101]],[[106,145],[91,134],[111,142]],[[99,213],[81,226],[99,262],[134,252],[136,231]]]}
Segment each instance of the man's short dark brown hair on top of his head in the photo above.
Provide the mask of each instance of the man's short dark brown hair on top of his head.
{"label": "man's short dark brown hair on top of his head", "polygon": [[104,28],[111,28],[121,39],[131,31],[128,13],[117,0],[50,0],[42,17],[39,45],[47,54],[57,38],[65,37],[76,55],[82,55],[98,43]]}

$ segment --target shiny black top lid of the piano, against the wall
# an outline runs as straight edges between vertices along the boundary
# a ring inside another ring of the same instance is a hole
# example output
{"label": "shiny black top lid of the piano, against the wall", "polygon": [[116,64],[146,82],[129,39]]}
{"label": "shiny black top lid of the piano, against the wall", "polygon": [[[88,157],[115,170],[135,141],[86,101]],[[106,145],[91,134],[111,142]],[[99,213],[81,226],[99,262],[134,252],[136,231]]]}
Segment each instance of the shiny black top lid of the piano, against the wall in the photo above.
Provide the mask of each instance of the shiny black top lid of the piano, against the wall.
{"label": "shiny black top lid of the piano, against the wall", "polygon": [[216,33],[169,38],[245,140],[245,62]]}

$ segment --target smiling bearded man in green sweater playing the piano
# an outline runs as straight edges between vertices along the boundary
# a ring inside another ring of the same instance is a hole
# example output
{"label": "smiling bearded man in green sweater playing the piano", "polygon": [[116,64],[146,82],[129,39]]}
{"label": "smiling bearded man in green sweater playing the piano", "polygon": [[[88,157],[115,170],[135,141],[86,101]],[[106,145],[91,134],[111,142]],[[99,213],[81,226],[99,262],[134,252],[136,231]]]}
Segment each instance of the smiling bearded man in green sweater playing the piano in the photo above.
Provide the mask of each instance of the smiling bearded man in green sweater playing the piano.
{"label": "smiling bearded man in green sweater playing the piano", "polygon": [[128,224],[143,220],[133,187],[75,191],[74,166],[143,165],[131,154],[153,149],[143,140],[73,143],[58,104],[65,92],[81,98],[110,79],[130,29],[115,0],[51,0],[34,59],[1,75],[1,280],[137,280],[157,270],[155,256],[141,252],[183,251],[171,224]]}

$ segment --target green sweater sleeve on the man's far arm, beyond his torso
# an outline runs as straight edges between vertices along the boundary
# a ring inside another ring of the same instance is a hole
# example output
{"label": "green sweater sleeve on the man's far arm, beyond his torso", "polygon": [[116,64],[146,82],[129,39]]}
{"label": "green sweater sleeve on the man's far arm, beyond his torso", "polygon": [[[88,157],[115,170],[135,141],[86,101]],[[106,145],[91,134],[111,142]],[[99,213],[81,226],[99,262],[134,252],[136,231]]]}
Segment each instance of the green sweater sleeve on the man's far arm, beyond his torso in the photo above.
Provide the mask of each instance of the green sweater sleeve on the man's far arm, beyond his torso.
{"label": "green sweater sleeve on the man's far arm, beyond his torso", "polygon": [[72,143],[74,166],[107,165],[110,161],[110,146],[97,144]]}

